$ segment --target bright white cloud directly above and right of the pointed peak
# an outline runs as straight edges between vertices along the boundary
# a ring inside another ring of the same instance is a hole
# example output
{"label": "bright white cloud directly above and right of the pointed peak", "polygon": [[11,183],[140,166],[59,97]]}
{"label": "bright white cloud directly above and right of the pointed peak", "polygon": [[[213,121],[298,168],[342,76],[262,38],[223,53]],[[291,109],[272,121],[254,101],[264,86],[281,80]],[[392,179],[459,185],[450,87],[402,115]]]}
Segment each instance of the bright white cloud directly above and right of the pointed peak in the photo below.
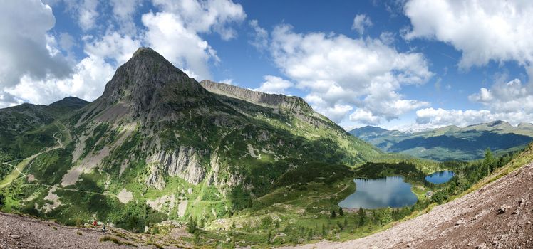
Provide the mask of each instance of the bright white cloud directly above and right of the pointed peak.
{"label": "bright white cloud directly above and right of the pointed peak", "polygon": [[228,0],[154,0],[160,12],[144,14],[145,43],[190,77],[209,79],[209,61],[219,62],[217,52],[200,33],[219,33],[222,39],[237,36],[229,25],[246,18],[240,4]]}

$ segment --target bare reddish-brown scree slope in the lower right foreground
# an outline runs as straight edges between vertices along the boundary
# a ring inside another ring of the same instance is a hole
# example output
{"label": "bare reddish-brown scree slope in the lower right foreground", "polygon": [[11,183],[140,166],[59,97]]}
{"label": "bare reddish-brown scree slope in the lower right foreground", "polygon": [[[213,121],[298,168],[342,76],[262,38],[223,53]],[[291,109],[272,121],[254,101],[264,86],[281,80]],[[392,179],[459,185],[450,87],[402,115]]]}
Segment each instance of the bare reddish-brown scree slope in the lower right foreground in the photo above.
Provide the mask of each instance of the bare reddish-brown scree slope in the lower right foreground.
{"label": "bare reddish-brown scree slope in the lower right foreground", "polygon": [[533,164],[365,238],[297,248],[533,248]]}

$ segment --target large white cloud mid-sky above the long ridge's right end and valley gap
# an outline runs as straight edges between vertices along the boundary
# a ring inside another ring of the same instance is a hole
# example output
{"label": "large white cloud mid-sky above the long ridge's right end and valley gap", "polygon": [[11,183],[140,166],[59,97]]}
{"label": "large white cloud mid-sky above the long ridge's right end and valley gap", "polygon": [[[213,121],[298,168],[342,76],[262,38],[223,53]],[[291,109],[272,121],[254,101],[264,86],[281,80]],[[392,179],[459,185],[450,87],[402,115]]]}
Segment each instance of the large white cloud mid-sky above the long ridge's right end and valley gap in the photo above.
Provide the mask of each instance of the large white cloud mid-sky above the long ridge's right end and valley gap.
{"label": "large white cloud mid-sky above the long ridge's right end and valley gap", "polygon": [[358,121],[376,124],[429,105],[399,93],[402,85],[424,84],[432,77],[427,60],[421,53],[398,52],[381,39],[296,33],[280,25],[271,32],[269,50],[296,87],[310,91],[305,99],[314,109],[333,120],[343,119],[339,115],[351,110],[346,106],[377,117]]}

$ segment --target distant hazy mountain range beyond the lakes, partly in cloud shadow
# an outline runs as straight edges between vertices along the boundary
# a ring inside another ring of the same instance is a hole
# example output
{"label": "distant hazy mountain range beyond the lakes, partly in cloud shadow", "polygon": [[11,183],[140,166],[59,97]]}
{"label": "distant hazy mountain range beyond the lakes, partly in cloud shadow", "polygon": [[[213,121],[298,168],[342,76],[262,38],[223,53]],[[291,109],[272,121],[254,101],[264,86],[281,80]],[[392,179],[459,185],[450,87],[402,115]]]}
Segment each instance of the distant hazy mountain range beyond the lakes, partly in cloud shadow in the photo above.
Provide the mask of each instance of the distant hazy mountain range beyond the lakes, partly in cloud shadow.
{"label": "distant hazy mountain range beyond the lakes, partly in cloud shadow", "polygon": [[514,127],[508,122],[495,121],[415,133],[366,126],[349,133],[385,152],[438,161],[472,160],[482,158],[487,148],[498,154],[525,147],[533,140],[533,124],[521,123]]}

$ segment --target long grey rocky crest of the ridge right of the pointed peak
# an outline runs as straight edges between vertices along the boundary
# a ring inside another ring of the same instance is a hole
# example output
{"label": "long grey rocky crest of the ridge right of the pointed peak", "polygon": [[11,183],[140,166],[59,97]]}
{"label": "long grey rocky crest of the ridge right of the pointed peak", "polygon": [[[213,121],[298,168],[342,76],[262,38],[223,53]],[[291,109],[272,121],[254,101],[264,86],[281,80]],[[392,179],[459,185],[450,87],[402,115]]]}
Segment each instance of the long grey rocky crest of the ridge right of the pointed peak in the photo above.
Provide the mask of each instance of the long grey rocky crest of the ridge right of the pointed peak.
{"label": "long grey rocky crest of the ridge right of the pointed peak", "polygon": [[311,108],[311,106],[309,106],[305,100],[301,99],[301,97],[256,92],[245,88],[239,88],[234,85],[216,83],[211,80],[202,80],[200,85],[202,85],[202,87],[207,89],[209,92],[226,95],[228,97],[235,97],[240,100],[246,100],[256,105],[282,107],[296,113],[313,112],[313,108]]}

